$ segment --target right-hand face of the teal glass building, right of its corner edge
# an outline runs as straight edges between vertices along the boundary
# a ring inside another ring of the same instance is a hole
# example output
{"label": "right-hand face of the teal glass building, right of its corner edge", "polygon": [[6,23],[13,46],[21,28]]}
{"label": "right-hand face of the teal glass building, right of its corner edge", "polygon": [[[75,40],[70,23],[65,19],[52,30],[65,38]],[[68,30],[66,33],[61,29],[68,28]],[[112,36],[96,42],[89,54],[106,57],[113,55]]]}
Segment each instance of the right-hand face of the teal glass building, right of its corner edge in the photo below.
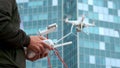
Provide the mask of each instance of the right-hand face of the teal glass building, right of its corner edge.
{"label": "right-hand face of the teal glass building, right of its corner edge", "polygon": [[119,0],[78,0],[81,14],[96,26],[79,34],[78,68],[120,68]]}

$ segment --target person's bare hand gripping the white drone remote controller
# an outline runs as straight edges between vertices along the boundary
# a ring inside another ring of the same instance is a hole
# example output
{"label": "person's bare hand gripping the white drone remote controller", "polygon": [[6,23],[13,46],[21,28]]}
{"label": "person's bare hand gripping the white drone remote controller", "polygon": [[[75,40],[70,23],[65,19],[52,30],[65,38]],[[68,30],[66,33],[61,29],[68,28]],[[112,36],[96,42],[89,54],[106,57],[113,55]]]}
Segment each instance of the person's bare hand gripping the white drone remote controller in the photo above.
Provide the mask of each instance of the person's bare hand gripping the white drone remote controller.
{"label": "person's bare hand gripping the white drone remote controller", "polygon": [[27,56],[28,60],[35,61],[48,55],[49,50],[52,50],[52,47],[43,42],[45,39],[46,38],[42,36],[30,36],[30,44],[27,48],[27,51],[33,51],[35,53],[35,56],[33,58],[28,58]]}

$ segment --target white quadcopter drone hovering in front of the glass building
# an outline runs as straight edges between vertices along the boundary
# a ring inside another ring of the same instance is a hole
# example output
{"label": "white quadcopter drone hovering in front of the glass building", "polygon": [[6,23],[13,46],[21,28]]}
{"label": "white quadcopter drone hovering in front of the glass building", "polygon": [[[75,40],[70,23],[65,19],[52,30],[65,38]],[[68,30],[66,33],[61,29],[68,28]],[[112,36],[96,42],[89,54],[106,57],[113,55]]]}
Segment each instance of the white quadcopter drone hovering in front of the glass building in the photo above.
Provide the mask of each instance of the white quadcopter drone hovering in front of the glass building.
{"label": "white quadcopter drone hovering in front of the glass building", "polygon": [[81,21],[79,21],[79,20],[69,20],[69,18],[66,18],[65,23],[69,23],[69,24],[72,24],[72,26],[76,26],[76,31],[77,32],[83,31],[83,28],[94,27],[95,26],[94,22],[92,24],[91,23],[85,23],[84,19],[85,19],[84,16],[82,16]]}

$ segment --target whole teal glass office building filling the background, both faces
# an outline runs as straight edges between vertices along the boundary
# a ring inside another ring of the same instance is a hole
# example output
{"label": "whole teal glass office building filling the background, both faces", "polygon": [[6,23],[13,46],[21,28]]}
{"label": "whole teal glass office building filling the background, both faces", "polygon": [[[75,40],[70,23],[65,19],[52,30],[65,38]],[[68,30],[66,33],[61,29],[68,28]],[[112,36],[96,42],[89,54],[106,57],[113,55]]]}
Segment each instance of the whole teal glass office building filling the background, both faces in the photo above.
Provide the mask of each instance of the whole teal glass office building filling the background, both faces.
{"label": "whole teal glass office building filling the background, both faces", "polygon": [[[70,46],[59,48],[69,68],[120,68],[120,4],[119,0],[17,0],[21,22],[29,35],[57,23],[58,29],[49,38],[56,41],[69,33],[71,24],[64,22],[81,19],[95,22],[95,27],[73,34],[61,42],[72,41]],[[64,68],[61,62],[51,57],[53,68]],[[47,59],[34,63],[27,61],[27,68],[47,68]]]}

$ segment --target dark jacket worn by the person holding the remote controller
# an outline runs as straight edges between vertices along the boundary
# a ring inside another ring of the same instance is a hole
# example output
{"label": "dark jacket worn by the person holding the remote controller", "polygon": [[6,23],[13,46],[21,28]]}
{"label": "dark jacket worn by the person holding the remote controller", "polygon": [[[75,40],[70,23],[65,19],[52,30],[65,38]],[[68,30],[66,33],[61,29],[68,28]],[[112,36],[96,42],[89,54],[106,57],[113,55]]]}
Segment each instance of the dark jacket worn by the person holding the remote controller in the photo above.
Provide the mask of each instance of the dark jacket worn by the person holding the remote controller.
{"label": "dark jacket worn by the person holding the remote controller", "polygon": [[0,0],[0,66],[25,67],[24,46],[29,36],[19,29],[20,18],[15,0]]}

